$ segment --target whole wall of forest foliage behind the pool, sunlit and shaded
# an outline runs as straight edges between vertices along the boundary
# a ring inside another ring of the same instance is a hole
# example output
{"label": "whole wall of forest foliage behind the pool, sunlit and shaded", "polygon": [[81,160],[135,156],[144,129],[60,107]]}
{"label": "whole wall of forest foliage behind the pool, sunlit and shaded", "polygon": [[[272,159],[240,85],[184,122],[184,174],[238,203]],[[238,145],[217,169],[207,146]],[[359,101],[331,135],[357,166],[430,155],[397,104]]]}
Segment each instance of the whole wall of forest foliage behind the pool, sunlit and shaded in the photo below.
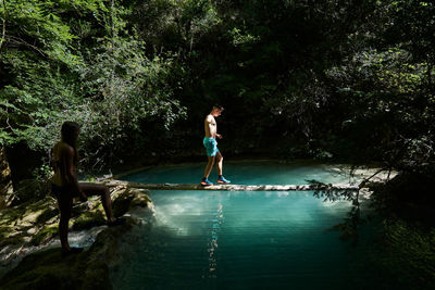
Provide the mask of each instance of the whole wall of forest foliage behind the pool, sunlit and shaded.
{"label": "whole wall of forest foliage behind the pool, sunlit and shaded", "polygon": [[[434,164],[435,7],[424,1],[1,1],[0,142],[84,164],[200,151]],[[226,147],[226,148],[225,148]]]}

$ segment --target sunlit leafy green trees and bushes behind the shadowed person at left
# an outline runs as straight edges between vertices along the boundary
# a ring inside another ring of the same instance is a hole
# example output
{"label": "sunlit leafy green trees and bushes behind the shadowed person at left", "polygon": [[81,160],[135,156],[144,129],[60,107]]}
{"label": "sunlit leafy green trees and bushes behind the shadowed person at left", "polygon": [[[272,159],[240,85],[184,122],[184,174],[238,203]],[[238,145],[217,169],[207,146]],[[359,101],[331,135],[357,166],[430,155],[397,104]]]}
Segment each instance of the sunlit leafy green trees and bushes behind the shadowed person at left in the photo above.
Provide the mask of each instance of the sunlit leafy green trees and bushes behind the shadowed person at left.
{"label": "sunlit leafy green trees and bushes behind the shadowed person at left", "polygon": [[146,55],[123,21],[128,10],[100,0],[2,1],[1,12],[2,146],[48,151],[73,119],[85,163],[97,165],[144,142],[144,119],[167,127],[182,116],[166,81],[171,60]]}

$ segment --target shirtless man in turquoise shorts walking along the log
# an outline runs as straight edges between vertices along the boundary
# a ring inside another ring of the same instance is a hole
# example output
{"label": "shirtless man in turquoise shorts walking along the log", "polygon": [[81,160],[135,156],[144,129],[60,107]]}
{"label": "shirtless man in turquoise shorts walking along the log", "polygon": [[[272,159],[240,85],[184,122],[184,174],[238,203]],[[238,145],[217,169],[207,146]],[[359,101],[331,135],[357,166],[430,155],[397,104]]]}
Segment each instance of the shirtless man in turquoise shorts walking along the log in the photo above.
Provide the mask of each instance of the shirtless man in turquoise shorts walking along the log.
{"label": "shirtless man in turquoise shorts walking along the log", "polygon": [[215,117],[219,117],[221,115],[222,111],[224,111],[224,108],[222,105],[216,104],[213,106],[210,114],[208,114],[204,119],[206,137],[203,138],[202,143],[207,150],[208,163],[206,166],[204,176],[201,180],[201,186],[212,186],[213,185],[209,180],[209,176],[210,176],[211,169],[213,168],[214,162],[216,162],[216,168],[217,168],[217,175],[219,175],[217,184],[229,184],[231,182],[229,180],[225,179],[225,177],[222,175],[224,157],[222,156],[221,152],[219,152],[217,141],[216,141],[216,137],[219,139],[222,139],[222,135],[217,134],[217,125],[216,125]]}

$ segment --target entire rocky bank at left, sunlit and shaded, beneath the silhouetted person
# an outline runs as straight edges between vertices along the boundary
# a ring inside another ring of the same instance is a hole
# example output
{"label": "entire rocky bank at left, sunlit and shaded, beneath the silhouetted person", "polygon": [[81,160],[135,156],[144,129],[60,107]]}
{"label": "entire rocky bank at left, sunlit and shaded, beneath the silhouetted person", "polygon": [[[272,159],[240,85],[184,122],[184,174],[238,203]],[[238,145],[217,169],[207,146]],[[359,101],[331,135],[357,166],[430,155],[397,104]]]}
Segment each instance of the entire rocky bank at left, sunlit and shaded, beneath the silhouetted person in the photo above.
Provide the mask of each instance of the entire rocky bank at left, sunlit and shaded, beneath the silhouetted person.
{"label": "entire rocky bank at left, sunlit and shaded, beneath the silhouetted person", "polygon": [[[109,268],[116,263],[120,238],[147,223],[152,203],[147,190],[111,188],[113,212],[123,226],[107,227],[98,198],[75,203],[70,242],[85,247],[80,254],[61,256],[59,213],[51,197],[0,211],[0,289],[112,289]],[[132,214],[140,212],[139,216]]]}

